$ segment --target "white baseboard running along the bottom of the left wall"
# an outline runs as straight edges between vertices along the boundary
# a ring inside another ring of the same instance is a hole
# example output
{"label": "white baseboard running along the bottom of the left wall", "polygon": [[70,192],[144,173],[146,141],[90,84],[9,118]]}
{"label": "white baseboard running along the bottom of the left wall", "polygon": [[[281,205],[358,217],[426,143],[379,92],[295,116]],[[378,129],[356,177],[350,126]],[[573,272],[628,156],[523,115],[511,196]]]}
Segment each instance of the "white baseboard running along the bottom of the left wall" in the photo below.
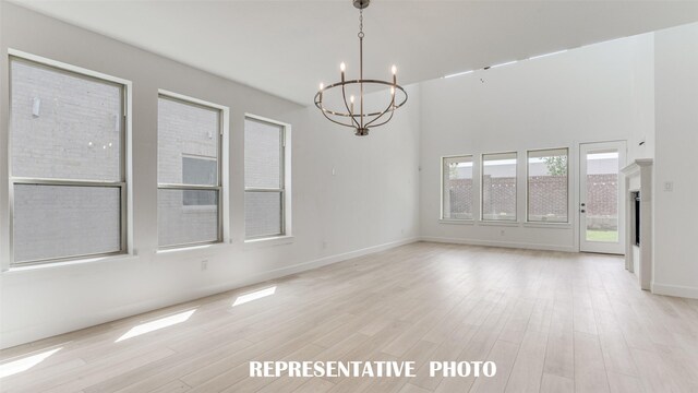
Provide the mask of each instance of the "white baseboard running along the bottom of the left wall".
{"label": "white baseboard running along the bottom of the left wall", "polygon": [[80,319],[70,319],[70,320],[64,320],[60,322],[57,321],[56,324],[51,324],[51,325],[40,324],[40,325],[34,325],[31,327],[24,327],[16,331],[3,332],[2,340],[0,340],[0,348],[4,349],[4,348],[13,347],[16,345],[35,342],[38,340],[44,340],[47,337],[52,337],[60,334],[65,334],[65,333],[79,331],[82,329],[96,326],[103,323],[117,321],[122,318],[129,318],[132,315],[137,315],[143,312],[148,312],[148,311],[157,310],[165,307],[176,306],[176,305],[186,302],[186,301],[192,301],[202,297],[216,295],[216,294],[220,294],[220,293],[237,289],[237,288],[242,288],[249,285],[263,283],[269,279],[280,278],[287,275],[309,271],[312,269],[322,267],[325,265],[346,261],[357,257],[368,255],[374,252],[388,250],[395,247],[412,243],[416,241],[419,241],[419,238],[396,240],[396,241],[392,241],[383,245],[366,247],[366,248],[354,250],[354,251],[344,252],[340,254],[323,257],[312,261],[301,262],[294,265],[276,269],[276,270],[263,272],[260,274],[254,274],[243,279],[228,282],[224,285],[207,286],[203,288],[190,288],[189,290],[174,293],[165,297],[159,297],[155,299],[149,298],[136,303],[122,306],[117,309],[103,310],[101,312],[98,312],[98,313],[89,313],[89,314],[81,315]]}

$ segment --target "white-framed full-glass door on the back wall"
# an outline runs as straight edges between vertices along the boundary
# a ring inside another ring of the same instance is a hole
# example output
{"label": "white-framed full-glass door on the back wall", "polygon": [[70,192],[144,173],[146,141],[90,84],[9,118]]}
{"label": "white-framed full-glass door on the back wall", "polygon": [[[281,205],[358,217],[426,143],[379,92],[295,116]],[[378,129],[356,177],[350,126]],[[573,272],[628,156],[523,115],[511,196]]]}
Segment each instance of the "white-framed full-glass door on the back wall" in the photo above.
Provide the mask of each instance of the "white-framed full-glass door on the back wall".
{"label": "white-framed full-glass door on the back wall", "polygon": [[625,141],[579,145],[579,250],[625,253]]}

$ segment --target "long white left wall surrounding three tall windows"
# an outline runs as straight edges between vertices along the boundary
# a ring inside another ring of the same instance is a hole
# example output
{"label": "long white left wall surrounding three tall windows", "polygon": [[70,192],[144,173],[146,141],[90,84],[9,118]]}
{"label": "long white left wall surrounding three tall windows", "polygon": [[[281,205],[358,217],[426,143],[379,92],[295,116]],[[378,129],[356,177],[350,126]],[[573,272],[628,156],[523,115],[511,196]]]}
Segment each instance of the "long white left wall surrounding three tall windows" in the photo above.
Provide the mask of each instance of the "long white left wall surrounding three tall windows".
{"label": "long white left wall surrounding three tall windows", "polygon": [[[8,142],[8,48],[133,82],[130,225],[135,254],[3,272],[0,346],[98,324],[418,237],[418,87],[409,88],[410,103],[390,124],[369,138],[357,138],[351,130],[328,123],[314,107],[300,107],[7,2],[0,2],[0,146]],[[226,147],[230,151],[227,180],[231,213],[227,216],[230,234],[226,245],[156,253],[158,88],[230,108]],[[245,112],[292,124],[294,238],[290,242],[243,243]],[[7,162],[8,150],[0,148],[0,253],[4,264],[9,258]],[[200,269],[202,259],[208,260],[205,272]]]}

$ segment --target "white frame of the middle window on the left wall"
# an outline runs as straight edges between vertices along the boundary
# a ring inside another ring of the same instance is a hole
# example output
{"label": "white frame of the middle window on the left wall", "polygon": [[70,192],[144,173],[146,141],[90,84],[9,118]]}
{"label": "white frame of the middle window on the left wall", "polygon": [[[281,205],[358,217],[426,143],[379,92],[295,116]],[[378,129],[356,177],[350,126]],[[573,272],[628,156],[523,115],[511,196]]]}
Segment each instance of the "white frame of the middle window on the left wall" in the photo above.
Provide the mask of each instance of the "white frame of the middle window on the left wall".
{"label": "white frame of the middle window on the left wall", "polygon": [[[166,183],[166,182],[160,182],[159,181],[159,130],[158,130],[158,144],[157,144],[157,152],[156,152],[156,156],[157,156],[157,166],[158,166],[158,181],[157,181],[157,191],[159,194],[160,190],[180,190],[180,191],[195,191],[195,190],[203,190],[203,191],[216,191],[217,195],[218,195],[218,204],[217,204],[217,209],[218,209],[218,214],[217,214],[217,228],[216,228],[216,239],[215,240],[204,240],[204,241],[190,241],[190,242],[183,242],[183,243],[176,243],[176,245],[160,245],[159,243],[159,235],[158,235],[158,245],[157,245],[157,249],[158,250],[171,250],[171,249],[181,249],[181,248],[189,248],[189,247],[196,247],[196,246],[205,246],[205,245],[216,245],[216,243],[222,243],[224,240],[224,192],[225,192],[225,187],[224,187],[224,166],[222,166],[222,162],[224,162],[224,150],[222,150],[222,145],[225,142],[225,130],[226,130],[226,126],[225,126],[225,120],[227,118],[227,107],[224,107],[221,105],[217,105],[217,104],[213,104],[213,103],[208,103],[198,98],[193,98],[193,97],[189,97],[182,94],[178,94],[178,93],[172,93],[172,92],[168,92],[168,91],[164,91],[164,90],[158,90],[158,94],[157,94],[157,99],[158,102],[160,100],[160,98],[164,99],[169,99],[179,104],[183,104],[183,105],[189,105],[189,106],[193,106],[193,107],[198,107],[198,108],[203,108],[206,110],[212,110],[218,114],[218,132],[217,132],[217,138],[218,138],[218,148],[217,148],[217,174],[216,174],[216,184],[214,186],[208,186],[208,184],[178,184],[178,183]],[[158,109],[159,110],[159,109]],[[159,116],[159,112],[158,112]],[[182,155],[182,157],[184,157],[186,155]],[[183,180],[182,180],[183,182]],[[156,202],[156,206],[159,209],[159,203]],[[210,206],[210,205],[207,205]],[[184,210],[184,212],[192,212],[192,211],[201,211],[198,207],[196,206],[184,206],[182,203],[182,207]],[[158,221],[159,221],[159,212],[158,212]],[[159,234],[159,223],[157,226],[157,231]]]}

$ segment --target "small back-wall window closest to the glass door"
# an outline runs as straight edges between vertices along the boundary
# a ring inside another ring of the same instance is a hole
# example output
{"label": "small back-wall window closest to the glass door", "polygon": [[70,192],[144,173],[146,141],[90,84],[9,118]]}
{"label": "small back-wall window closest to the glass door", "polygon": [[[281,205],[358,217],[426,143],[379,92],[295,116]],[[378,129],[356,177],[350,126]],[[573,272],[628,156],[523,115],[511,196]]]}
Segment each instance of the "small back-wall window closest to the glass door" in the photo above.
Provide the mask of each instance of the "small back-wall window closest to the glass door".
{"label": "small back-wall window closest to the glass door", "polygon": [[567,148],[528,152],[528,221],[567,223]]}

